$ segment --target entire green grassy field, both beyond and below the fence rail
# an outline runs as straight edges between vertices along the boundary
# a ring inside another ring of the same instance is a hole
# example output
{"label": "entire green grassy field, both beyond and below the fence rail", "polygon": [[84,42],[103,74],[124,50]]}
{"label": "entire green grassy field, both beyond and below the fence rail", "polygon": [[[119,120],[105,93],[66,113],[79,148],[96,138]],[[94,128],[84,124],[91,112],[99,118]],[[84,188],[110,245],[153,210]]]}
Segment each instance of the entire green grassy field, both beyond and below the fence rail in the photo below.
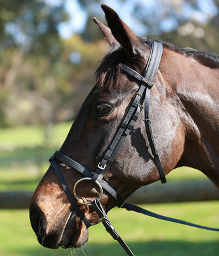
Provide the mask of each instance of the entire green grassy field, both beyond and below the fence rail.
{"label": "entire green grassy field, both beyond and below the fence rail", "polygon": [[[0,129],[0,190],[34,190],[49,167],[48,158],[60,148],[70,126],[70,123],[56,125],[50,129],[48,140],[43,137],[42,127]],[[168,176],[169,182],[183,179],[206,178],[186,167]],[[199,202],[144,207],[162,215],[219,227],[218,205],[218,202]],[[159,221],[124,209],[112,209],[109,219],[135,255],[218,255],[217,232]],[[89,243],[77,250],[41,247],[31,230],[28,209],[0,210],[0,226],[0,256],[126,255],[101,223],[90,228]]]}

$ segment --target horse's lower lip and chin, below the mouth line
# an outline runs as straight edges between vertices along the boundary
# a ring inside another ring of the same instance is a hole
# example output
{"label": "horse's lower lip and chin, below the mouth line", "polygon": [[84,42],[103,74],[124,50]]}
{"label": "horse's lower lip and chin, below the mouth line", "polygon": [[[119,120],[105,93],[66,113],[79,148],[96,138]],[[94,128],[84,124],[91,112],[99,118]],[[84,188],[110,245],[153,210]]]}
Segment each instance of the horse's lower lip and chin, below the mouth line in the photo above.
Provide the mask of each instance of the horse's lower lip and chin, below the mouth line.
{"label": "horse's lower lip and chin, below the mouth line", "polygon": [[88,238],[87,226],[77,217],[76,213],[71,213],[62,234],[60,247],[64,249],[81,247],[86,244]]}

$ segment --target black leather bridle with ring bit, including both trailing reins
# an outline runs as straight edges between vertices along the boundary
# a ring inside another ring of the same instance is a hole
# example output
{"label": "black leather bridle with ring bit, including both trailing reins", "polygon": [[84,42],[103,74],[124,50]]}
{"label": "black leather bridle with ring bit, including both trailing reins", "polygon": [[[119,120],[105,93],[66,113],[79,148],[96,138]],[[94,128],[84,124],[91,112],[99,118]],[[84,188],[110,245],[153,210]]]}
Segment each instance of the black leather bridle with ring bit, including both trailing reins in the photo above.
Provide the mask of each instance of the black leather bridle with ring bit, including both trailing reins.
{"label": "black leather bridle with ring bit, including both trailing reins", "polygon": [[[91,225],[89,220],[83,215],[79,205],[85,204],[85,205],[92,205],[93,209],[98,213],[100,220],[104,224],[106,230],[113,236],[115,240],[119,242],[127,251],[128,255],[134,255],[132,251],[130,251],[129,247],[125,242],[122,240],[122,238],[119,236],[115,228],[110,223],[101,203],[100,200],[102,199],[103,194],[103,188],[106,190],[113,198],[115,198],[115,201],[117,203],[118,207],[126,208],[129,211],[137,211],[139,213],[144,213],[146,215],[149,215],[151,217],[156,217],[159,219],[165,219],[167,221],[174,221],[182,224],[188,224],[190,226],[196,226],[199,228],[206,228],[210,230],[219,231],[219,229],[216,228],[207,228],[204,226],[199,226],[196,224],[188,223],[185,221],[180,221],[176,219],[172,219],[169,217],[164,217],[161,215],[156,215],[155,213],[151,213],[149,211],[146,211],[140,207],[137,207],[136,205],[132,205],[130,203],[123,202],[122,198],[117,194],[114,188],[112,188],[106,181],[103,180],[104,175],[108,171],[109,167],[111,166],[111,163],[115,159],[115,156],[119,152],[121,146],[123,145],[123,142],[125,141],[126,137],[130,134],[130,131],[132,131],[132,128],[134,127],[134,123],[140,116],[140,113],[143,109],[143,103],[144,103],[144,123],[146,125],[146,133],[148,135],[148,141],[149,146],[151,148],[151,152],[153,154],[153,158],[155,161],[155,164],[157,165],[157,169],[159,171],[160,179],[162,183],[167,182],[165,178],[165,173],[163,171],[163,167],[161,165],[161,161],[159,160],[159,156],[157,154],[157,150],[155,148],[155,142],[152,135],[150,120],[149,120],[149,93],[150,89],[153,87],[153,80],[155,78],[155,75],[157,74],[157,70],[159,68],[159,63],[161,61],[161,57],[163,54],[163,45],[161,43],[158,43],[156,41],[153,41],[151,45],[151,51],[149,54],[148,62],[146,65],[146,70],[144,72],[144,76],[138,74],[135,70],[130,68],[129,66],[126,66],[125,64],[122,64],[121,71],[123,74],[127,75],[128,77],[132,77],[136,82],[140,83],[140,86],[138,88],[138,91],[134,94],[131,104],[129,107],[129,110],[127,111],[127,114],[123,117],[123,121],[119,125],[119,128],[117,130],[117,133],[113,137],[113,140],[109,144],[106,153],[104,154],[102,160],[98,163],[98,167],[96,168],[96,171],[94,173],[90,171],[89,169],[83,167],[80,163],[77,163],[77,161],[72,160],[68,156],[62,154],[60,151],[56,151],[54,155],[50,158],[50,163],[52,164],[52,167],[56,171],[56,174],[58,176],[58,179],[60,180],[62,187],[64,191],[66,192],[66,195],[68,196],[68,200],[70,200],[71,203],[71,211],[76,211],[77,215],[81,218],[81,220],[85,223],[87,228]],[[66,181],[58,167],[58,164],[56,163],[56,160],[65,163],[75,171],[81,173],[83,176],[85,176],[82,179],[79,179],[74,185],[73,188],[73,194],[75,198],[73,198],[73,195],[70,192],[70,189],[68,188],[68,185],[66,184]],[[100,198],[98,200],[94,200],[92,203],[84,202],[82,198],[78,198],[76,187],[77,184],[81,181],[92,181],[98,185],[100,188]],[[76,200],[75,200],[76,199]]]}

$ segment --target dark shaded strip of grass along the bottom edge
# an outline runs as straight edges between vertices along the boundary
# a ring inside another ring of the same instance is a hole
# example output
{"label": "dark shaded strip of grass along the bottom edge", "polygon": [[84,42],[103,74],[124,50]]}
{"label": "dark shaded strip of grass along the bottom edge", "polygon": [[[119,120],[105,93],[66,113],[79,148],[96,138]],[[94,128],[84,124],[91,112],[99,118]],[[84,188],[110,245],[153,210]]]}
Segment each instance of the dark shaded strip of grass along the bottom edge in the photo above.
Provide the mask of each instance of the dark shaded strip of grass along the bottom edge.
{"label": "dark shaded strip of grass along the bottom edge", "polygon": [[[136,256],[215,256],[218,255],[218,242],[185,242],[185,241],[153,241],[153,242],[129,242],[130,249]],[[71,256],[125,256],[119,244],[88,244],[78,249],[46,249],[43,247],[33,247],[31,249],[24,249],[20,253],[18,251],[9,253],[10,255],[23,256],[57,256],[57,255],[71,255]],[[7,256],[7,254],[5,254]]]}

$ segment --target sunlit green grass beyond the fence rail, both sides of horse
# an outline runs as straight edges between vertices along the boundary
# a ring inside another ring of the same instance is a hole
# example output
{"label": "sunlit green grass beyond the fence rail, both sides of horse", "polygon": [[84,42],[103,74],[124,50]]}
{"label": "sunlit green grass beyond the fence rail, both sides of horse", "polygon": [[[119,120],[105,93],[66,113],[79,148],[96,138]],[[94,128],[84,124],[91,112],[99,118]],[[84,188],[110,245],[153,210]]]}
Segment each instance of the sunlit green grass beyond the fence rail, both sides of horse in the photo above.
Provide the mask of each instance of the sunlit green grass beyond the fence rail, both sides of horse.
{"label": "sunlit green grass beyond the fence rail, both sides of horse", "polygon": [[[60,148],[70,127],[71,122],[54,125],[44,144],[43,127],[0,129],[0,190],[34,190],[49,167],[49,157]],[[171,182],[206,178],[197,170],[182,167],[172,171],[167,179]]]}

